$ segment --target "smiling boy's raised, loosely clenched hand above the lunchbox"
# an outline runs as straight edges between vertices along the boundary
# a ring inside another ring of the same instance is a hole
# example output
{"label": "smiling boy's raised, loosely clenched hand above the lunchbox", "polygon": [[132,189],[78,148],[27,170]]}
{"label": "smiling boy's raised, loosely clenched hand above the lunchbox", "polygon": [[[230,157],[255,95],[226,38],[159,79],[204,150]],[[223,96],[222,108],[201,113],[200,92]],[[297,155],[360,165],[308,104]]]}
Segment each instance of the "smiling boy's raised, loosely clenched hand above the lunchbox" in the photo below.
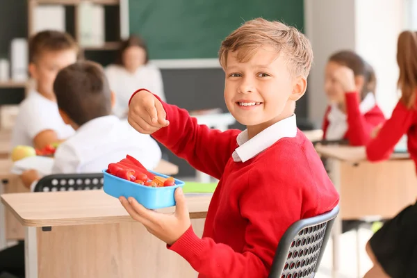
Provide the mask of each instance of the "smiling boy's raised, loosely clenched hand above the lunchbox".
{"label": "smiling boy's raised, loosely clenched hand above the lunchbox", "polygon": [[140,133],[152,134],[170,124],[166,116],[161,101],[152,93],[141,90],[131,99],[127,120]]}

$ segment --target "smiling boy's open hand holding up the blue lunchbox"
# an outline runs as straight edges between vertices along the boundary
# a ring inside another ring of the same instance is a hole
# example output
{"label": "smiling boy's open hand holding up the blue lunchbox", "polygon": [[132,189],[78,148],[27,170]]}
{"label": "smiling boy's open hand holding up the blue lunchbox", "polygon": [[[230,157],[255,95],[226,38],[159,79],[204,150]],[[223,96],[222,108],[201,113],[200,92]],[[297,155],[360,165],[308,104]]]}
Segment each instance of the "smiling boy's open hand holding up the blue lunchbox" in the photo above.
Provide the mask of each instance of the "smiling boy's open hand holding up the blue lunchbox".
{"label": "smiling boy's open hand holding up the blue lunchbox", "polygon": [[177,204],[173,214],[151,211],[139,204],[133,197],[129,199],[120,197],[119,199],[134,220],[142,223],[149,233],[168,245],[173,245],[190,228],[190,213],[188,213],[186,197],[181,188],[175,190]]}

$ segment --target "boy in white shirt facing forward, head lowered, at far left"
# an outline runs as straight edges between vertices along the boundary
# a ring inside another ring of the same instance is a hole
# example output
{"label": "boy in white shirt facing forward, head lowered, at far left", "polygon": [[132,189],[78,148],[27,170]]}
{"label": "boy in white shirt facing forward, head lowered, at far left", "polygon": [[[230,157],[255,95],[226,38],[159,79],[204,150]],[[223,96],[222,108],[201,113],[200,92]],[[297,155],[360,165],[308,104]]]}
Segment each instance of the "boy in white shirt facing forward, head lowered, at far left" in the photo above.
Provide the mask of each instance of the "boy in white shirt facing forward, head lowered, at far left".
{"label": "boy in white shirt facing forward, head lowered, at far left", "polygon": [[76,61],[78,46],[71,35],[60,31],[42,31],[29,41],[28,70],[36,81],[19,107],[11,140],[12,149],[28,145],[37,149],[74,134],[58,113],[53,84],[58,71]]}

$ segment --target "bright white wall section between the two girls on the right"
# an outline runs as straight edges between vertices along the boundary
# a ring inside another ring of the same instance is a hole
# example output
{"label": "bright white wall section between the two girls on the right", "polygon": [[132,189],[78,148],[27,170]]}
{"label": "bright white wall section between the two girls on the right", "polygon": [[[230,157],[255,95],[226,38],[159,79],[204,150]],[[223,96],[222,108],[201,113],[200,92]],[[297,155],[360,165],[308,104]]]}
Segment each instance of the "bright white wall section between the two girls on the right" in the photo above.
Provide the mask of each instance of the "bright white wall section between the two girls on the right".
{"label": "bright white wall section between the two girls on the right", "polygon": [[[361,0],[355,5],[357,52],[375,67],[377,102],[389,117],[398,101],[397,39],[404,29],[404,1]],[[375,8],[377,7],[377,13]]]}

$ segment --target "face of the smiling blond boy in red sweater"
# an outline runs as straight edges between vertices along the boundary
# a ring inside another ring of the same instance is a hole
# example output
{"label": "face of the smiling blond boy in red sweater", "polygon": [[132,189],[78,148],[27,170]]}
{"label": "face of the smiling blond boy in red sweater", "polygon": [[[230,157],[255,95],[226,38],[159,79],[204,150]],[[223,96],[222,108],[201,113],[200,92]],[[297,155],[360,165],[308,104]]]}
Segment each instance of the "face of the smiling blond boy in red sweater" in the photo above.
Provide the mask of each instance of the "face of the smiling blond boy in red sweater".
{"label": "face of the smiling blond boy in red sweater", "polygon": [[242,61],[239,52],[227,56],[224,100],[231,115],[247,126],[250,138],[293,115],[306,81],[294,77],[289,66],[273,47],[256,50],[250,60]]}

